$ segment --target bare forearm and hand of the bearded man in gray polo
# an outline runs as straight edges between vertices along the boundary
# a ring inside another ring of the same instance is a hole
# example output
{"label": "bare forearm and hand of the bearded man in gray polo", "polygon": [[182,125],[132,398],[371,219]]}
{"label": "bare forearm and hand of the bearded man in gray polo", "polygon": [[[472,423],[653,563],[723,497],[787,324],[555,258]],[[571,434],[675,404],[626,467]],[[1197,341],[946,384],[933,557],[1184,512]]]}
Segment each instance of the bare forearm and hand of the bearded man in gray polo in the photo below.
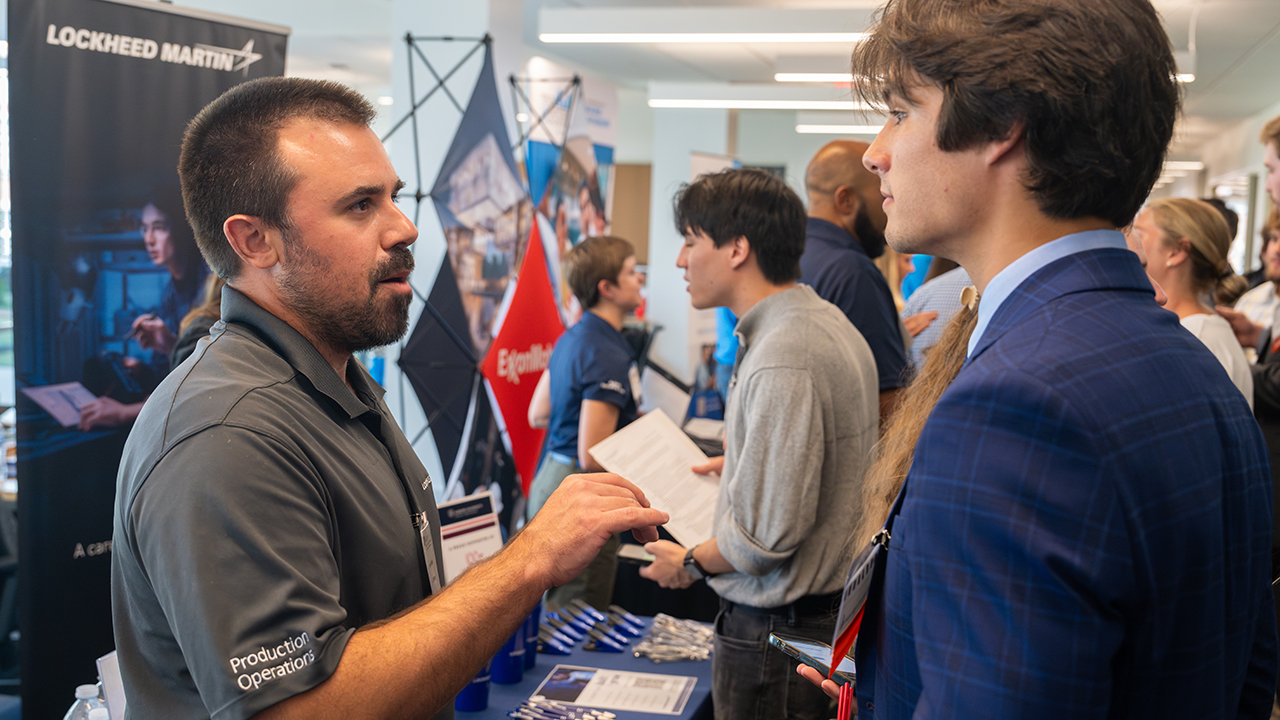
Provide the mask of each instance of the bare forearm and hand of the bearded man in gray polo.
{"label": "bare forearm and hand of the bearded man in gray polo", "polygon": [[547,588],[577,577],[604,542],[657,539],[666,512],[607,473],[570,475],[497,556],[444,592],[351,637],[328,680],[256,717],[430,717],[516,632]]}

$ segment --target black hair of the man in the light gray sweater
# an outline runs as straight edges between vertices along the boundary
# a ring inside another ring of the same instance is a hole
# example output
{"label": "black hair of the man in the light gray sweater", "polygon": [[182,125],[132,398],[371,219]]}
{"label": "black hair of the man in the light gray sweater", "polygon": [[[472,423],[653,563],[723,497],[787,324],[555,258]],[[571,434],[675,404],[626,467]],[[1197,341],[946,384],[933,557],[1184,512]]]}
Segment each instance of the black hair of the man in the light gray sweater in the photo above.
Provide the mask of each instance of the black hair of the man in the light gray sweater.
{"label": "black hair of the man in the light gray sweater", "polygon": [[745,237],[764,279],[774,284],[800,277],[806,214],[781,178],[754,168],[700,176],[676,192],[676,229],[705,233],[716,247]]}

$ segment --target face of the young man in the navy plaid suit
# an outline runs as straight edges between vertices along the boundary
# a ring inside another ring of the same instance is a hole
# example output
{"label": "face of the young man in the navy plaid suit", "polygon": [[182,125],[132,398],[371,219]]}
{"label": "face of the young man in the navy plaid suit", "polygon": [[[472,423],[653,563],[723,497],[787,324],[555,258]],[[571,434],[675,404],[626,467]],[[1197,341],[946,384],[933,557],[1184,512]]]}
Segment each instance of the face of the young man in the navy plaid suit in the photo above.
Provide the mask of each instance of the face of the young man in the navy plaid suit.
{"label": "face of the young man in the navy plaid suit", "polygon": [[863,155],[881,178],[884,237],[899,252],[955,258],[946,249],[975,229],[975,209],[989,204],[991,188],[978,181],[980,150],[938,149],[941,108],[942,91],[932,85],[915,88],[911,100],[890,97],[888,122]]}

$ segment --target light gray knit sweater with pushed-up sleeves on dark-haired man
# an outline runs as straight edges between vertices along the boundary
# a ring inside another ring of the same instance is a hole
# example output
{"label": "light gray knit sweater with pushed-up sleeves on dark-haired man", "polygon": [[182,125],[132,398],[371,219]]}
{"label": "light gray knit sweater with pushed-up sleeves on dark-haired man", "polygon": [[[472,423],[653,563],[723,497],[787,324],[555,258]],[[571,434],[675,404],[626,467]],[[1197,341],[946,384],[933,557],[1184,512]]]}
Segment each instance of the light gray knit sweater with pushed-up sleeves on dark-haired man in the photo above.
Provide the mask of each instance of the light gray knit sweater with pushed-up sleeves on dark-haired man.
{"label": "light gray knit sweater with pushed-up sleeves on dark-haired man", "polygon": [[716,539],[737,571],[709,584],[755,607],[836,592],[878,432],[876,360],[804,284],[758,302],[736,334]]}

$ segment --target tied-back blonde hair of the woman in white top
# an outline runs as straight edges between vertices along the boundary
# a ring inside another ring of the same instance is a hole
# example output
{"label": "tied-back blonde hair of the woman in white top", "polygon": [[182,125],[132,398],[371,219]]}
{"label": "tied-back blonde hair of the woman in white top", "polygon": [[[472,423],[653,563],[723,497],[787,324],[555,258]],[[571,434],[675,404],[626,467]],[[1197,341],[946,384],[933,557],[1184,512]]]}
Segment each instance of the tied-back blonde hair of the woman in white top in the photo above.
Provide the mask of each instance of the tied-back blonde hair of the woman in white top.
{"label": "tied-back blonde hair of the woman in white top", "polygon": [[1217,208],[1190,197],[1161,197],[1152,200],[1147,209],[1165,233],[1166,247],[1176,247],[1183,240],[1190,245],[1194,290],[1212,291],[1217,305],[1234,305],[1244,295],[1249,284],[1235,274],[1226,259],[1231,231]]}

